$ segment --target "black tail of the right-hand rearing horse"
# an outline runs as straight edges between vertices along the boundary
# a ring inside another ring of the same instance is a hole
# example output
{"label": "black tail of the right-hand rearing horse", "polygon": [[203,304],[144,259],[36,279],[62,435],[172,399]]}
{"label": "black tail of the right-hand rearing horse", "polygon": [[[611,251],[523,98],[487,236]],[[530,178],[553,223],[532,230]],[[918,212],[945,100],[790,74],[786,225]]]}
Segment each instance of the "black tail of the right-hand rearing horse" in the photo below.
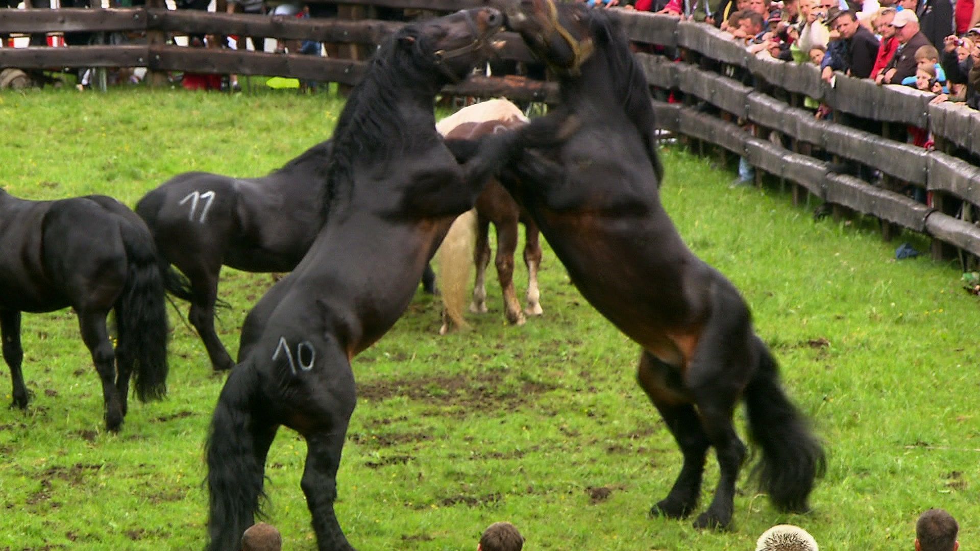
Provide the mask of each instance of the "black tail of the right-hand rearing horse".
{"label": "black tail of the right-hand rearing horse", "polygon": [[758,360],[746,418],[761,452],[753,475],[777,508],[805,512],[813,482],[826,472],[823,445],[790,399],[765,344],[759,336],[753,338]]}

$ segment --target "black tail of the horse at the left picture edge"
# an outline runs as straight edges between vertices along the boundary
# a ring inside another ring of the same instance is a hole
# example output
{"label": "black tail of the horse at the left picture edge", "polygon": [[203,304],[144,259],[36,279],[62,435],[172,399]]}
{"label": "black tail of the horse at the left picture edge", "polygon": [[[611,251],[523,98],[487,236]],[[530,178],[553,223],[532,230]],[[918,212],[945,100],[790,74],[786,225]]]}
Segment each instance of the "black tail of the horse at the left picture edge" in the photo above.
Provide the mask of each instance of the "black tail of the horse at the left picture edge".
{"label": "black tail of the horse at the left picture edge", "polygon": [[131,361],[140,401],[167,394],[167,303],[153,236],[142,225],[121,225],[128,274],[116,302],[117,357]]}

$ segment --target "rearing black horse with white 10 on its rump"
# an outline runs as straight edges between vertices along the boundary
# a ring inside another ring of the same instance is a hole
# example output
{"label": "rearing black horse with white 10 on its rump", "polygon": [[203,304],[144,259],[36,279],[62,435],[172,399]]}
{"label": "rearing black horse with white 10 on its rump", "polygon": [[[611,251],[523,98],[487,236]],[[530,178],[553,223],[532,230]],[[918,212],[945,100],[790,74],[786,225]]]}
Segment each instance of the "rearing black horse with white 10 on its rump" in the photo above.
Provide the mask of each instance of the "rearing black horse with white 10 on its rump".
{"label": "rearing black horse with white 10 on its rump", "polygon": [[237,549],[253,524],[282,425],[307,441],[302,488],[319,549],[352,549],[333,510],[356,403],[351,359],[398,320],[453,220],[529,139],[526,129],[485,136],[461,166],[435,129],[436,93],[503,45],[491,42],[503,23],[484,7],[405,26],[351,92],[333,133],[326,223],[249,314],[221,390],[207,451],[210,549]]}

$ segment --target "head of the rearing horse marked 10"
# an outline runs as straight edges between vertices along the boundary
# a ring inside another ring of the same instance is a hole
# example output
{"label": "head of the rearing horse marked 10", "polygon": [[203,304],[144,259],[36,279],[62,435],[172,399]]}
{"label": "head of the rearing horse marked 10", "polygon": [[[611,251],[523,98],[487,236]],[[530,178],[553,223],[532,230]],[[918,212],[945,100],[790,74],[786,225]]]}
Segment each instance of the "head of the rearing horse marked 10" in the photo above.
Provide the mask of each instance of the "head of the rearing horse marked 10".
{"label": "head of the rearing horse marked 10", "polygon": [[504,13],[486,6],[403,27],[395,35],[397,47],[416,60],[434,64],[450,82],[462,80],[478,65],[498,57],[504,41]]}

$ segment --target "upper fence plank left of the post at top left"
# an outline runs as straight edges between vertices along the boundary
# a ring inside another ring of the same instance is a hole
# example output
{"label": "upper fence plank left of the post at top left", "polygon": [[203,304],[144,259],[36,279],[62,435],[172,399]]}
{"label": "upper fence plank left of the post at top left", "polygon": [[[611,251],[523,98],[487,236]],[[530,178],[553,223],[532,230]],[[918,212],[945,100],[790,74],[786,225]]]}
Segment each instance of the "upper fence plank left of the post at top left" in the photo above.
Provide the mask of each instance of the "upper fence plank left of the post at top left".
{"label": "upper fence plank left of the post at top left", "polygon": [[142,9],[0,10],[0,33],[55,30],[145,30],[148,15]]}

